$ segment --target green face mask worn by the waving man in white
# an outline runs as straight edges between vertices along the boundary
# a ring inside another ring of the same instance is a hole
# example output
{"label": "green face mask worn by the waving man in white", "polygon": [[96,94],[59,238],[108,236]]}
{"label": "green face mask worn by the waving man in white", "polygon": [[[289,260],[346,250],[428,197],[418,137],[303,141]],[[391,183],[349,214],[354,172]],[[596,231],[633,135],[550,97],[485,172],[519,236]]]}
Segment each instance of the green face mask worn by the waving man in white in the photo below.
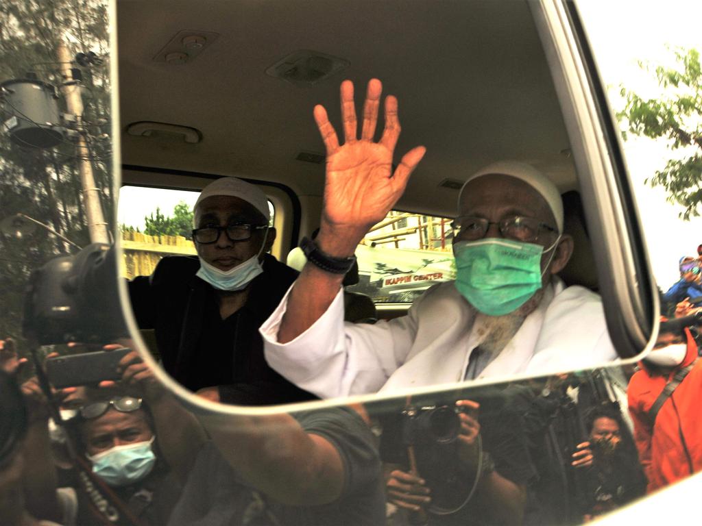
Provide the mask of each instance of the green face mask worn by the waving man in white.
{"label": "green face mask worn by the waving man in white", "polygon": [[488,316],[513,312],[541,288],[541,255],[557,243],[558,239],[544,250],[541,245],[508,239],[458,241],[453,244],[456,288]]}

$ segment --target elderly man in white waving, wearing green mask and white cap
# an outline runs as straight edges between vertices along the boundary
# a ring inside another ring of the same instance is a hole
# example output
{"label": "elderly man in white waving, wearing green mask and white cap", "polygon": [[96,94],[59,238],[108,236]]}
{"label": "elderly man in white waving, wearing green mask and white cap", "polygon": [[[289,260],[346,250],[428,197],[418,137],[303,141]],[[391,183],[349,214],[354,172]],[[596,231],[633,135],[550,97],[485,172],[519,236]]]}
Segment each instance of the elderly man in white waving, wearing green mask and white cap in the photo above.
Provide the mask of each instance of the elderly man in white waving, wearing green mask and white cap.
{"label": "elderly man in white waving, wearing green mask and white cap", "polygon": [[425,154],[412,149],[392,173],[395,97],[385,99],[385,130],[373,142],[381,89],[377,79],[369,82],[359,140],[353,84],[342,83],[343,145],[324,107],[314,108],[327,151],[321,228],[315,241],[303,240],[308,262],[260,328],[268,363],[327,398],[614,359],[600,297],[565,288],[556,276],[573,251],[559,192],[522,163],[496,163],[465,182],[454,222],[455,282],[430,288],[402,318],[343,322],[340,284],[354,250]]}

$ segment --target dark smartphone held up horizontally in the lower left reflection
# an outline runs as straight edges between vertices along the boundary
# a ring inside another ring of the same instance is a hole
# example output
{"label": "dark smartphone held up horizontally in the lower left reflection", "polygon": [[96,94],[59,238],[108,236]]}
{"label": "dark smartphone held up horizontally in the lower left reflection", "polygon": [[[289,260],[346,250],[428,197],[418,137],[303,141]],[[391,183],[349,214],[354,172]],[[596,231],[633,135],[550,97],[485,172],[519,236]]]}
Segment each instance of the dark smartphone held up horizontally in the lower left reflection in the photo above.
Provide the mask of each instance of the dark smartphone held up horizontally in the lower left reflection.
{"label": "dark smartphone held up horizontally in the lower left reflection", "polygon": [[121,347],[114,351],[69,354],[46,360],[46,375],[56,389],[88,384],[98,384],[105,380],[120,380],[117,372],[119,360],[131,349]]}

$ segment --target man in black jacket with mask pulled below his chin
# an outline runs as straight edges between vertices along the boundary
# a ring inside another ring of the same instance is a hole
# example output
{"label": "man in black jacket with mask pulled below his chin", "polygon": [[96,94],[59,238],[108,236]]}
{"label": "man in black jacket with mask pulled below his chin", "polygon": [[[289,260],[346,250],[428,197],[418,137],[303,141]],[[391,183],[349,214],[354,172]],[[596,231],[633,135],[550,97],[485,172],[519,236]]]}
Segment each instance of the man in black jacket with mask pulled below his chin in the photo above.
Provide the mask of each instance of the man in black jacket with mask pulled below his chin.
{"label": "man in black jacket with mask pulled below his chin", "polygon": [[268,367],[259,326],[297,272],[267,254],[275,239],[267,197],[223,177],[194,206],[197,258],[164,257],[129,283],[140,328],[154,329],[164,369],[224,403],[267,405],[312,398]]}

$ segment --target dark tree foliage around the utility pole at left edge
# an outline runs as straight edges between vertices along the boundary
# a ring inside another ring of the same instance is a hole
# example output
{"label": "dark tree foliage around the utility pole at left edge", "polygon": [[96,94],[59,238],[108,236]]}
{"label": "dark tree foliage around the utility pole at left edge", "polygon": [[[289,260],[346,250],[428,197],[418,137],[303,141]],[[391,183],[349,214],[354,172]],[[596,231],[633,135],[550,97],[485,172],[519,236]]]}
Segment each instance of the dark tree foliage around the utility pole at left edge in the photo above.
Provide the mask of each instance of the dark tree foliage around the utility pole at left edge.
{"label": "dark tree foliage around the utility pole at left edge", "polygon": [[[0,82],[35,72],[60,86],[56,47],[65,35],[74,55],[93,50],[102,65],[83,70],[84,120],[95,182],[107,194],[105,217],[112,217],[111,147],[98,136],[110,133],[110,67],[107,2],[102,0],[11,0],[0,2]],[[65,111],[60,102],[62,111]],[[6,109],[0,105],[0,109]],[[0,121],[8,115],[0,111]],[[109,138],[109,137],[107,137]],[[79,161],[69,141],[52,149],[18,147],[0,131],[0,220],[24,213],[84,246],[89,243],[81,201]],[[45,229],[15,239],[0,234],[0,338],[13,337],[27,356],[22,339],[22,304],[32,271],[73,250]]]}

